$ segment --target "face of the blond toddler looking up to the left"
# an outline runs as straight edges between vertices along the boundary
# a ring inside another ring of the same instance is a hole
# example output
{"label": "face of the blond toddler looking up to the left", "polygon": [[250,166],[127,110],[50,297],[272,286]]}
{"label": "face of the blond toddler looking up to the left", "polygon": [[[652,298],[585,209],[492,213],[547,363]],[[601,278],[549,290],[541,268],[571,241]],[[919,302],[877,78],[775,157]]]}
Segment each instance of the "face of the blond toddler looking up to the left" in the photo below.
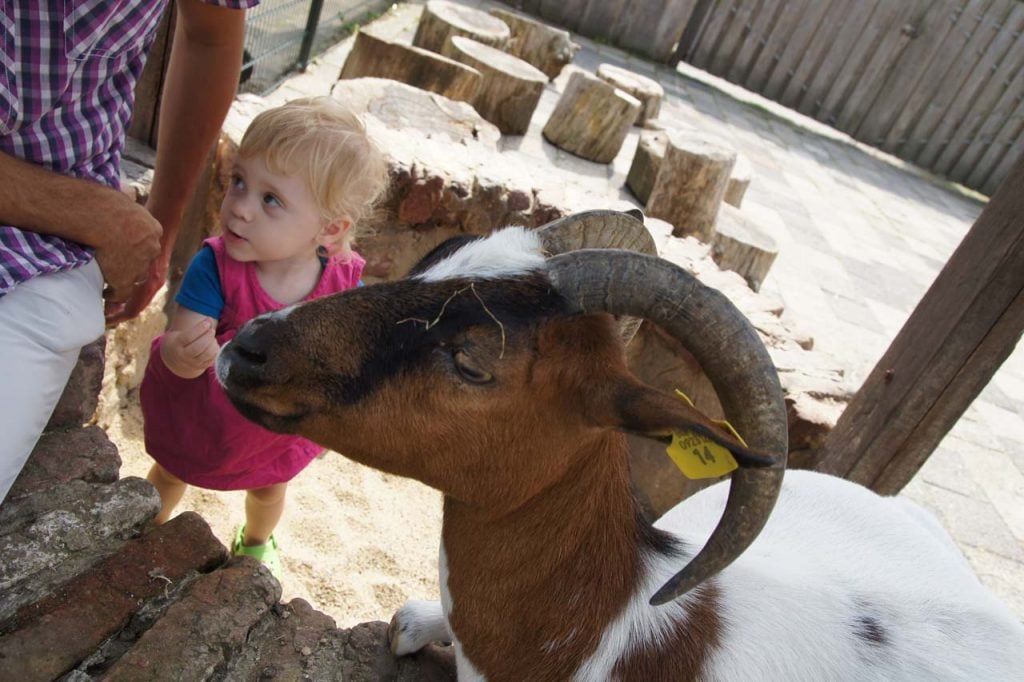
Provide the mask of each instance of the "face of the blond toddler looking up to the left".
{"label": "face of the blond toddler looking up to the left", "polygon": [[326,227],[306,183],[270,172],[262,158],[239,158],[220,224],[228,255],[238,261],[299,263],[316,258]]}

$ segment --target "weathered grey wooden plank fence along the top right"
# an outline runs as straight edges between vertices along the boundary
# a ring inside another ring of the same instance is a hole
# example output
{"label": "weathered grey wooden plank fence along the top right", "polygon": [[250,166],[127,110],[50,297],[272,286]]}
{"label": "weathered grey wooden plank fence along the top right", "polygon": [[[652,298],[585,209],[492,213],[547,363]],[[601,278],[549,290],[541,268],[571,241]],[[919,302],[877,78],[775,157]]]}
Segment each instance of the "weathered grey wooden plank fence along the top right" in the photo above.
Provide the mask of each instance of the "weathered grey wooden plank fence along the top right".
{"label": "weathered grey wooden plank fence along the top right", "polygon": [[1019,0],[509,4],[657,60],[685,59],[987,195],[1024,156]]}

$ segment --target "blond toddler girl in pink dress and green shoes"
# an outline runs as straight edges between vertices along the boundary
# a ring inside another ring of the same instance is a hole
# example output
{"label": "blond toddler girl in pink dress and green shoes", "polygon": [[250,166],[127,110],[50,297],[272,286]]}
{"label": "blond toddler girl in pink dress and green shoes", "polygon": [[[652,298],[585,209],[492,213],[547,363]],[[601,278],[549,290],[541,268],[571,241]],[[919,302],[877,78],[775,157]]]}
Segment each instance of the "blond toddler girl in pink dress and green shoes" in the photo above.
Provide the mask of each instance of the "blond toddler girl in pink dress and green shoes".
{"label": "blond toddler girl in pink dress and green shoes", "polygon": [[213,360],[251,317],[356,287],[365,261],[353,225],[383,190],[387,169],[358,118],[328,98],[291,101],[253,120],[220,207],[221,237],[193,259],[140,389],[148,479],[170,518],[186,484],[245,489],[232,554],[280,574],[273,529],[288,481],[323,451],[247,421]]}

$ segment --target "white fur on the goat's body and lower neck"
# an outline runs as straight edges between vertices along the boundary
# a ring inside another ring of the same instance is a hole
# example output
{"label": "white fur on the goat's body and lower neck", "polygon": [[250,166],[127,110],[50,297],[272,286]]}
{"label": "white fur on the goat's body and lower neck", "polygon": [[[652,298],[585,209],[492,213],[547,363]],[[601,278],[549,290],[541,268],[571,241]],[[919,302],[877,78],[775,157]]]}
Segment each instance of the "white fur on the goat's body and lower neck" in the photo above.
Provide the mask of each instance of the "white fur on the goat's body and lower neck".
{"label": "white fur on the goat's body and lower neck", "polygon": [[[707,488],[655,525],[702,544],[727,493],[725,483]],[[700,589],[665,606],[648,599],[677,563],[648,557],[640,585],[575,682],[611,679],[631,651],[672,641]],[[791,471],[764,530],[713,580],[721,629],[701,680],[1024,680],[1024,627],[978,582],[934,517],[900,498]],[[443,547],[440,585],[446,617]],[[864,617],[880,628],[881,642],[856,634]],[[459,679],[484,679],[453,639]]]}

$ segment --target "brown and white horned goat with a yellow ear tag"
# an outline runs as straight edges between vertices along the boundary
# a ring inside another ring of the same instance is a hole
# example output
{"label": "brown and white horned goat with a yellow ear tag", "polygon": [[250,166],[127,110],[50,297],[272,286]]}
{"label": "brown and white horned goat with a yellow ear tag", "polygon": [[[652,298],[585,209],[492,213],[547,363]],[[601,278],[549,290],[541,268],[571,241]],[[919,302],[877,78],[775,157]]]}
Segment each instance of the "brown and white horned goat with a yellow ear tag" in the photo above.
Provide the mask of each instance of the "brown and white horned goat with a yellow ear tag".
{"label": "brown and white horned goat with a yellow ear tag", "polygon": [[[263,315],[217,359],[250,419],[443,493],[441,604],[398,611],[397,653],[450,640],[462,680],[1024,679],[1024,628],[926,512],[783,481],[778,380],[721,294],[621,250],[546,257],[556,227]],[[683,341],[750,446],[634,378],[612,315]],[[739,469],[651,525],[625,433],[687,430]]]}

